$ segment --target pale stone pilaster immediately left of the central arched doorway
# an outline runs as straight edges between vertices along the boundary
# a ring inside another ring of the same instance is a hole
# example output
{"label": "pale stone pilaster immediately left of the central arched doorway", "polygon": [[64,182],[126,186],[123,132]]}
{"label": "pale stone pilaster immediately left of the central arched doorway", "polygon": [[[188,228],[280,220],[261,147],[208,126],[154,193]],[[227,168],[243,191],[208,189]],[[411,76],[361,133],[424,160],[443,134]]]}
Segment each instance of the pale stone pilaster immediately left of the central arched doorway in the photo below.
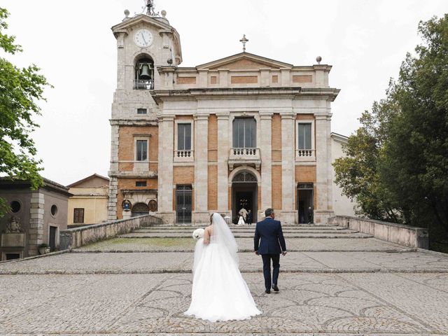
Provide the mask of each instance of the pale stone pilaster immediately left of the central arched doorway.
{"label": "pale stone pilaster immediately left of the central arched doorway", "polygon": [[230,215],[228,202],[229,114],[216,113],[218,118],[218,212]]}

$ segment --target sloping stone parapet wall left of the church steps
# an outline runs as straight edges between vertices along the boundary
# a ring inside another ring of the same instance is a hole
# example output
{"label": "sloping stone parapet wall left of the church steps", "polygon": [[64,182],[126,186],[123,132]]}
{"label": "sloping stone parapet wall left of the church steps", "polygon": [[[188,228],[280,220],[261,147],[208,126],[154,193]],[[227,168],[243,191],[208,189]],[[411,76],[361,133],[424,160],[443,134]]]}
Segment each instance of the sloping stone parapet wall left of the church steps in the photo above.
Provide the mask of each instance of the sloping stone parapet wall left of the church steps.
{"label": "sloping stone parapet wall left of the church steps", "polygon": [[60,232],[60,250],[78,248],[95,241],[109,239],[116,235],[131,232],[143,225],[162,224],[162,219],[153,215],[122,219],[109,223],[88,225]]}

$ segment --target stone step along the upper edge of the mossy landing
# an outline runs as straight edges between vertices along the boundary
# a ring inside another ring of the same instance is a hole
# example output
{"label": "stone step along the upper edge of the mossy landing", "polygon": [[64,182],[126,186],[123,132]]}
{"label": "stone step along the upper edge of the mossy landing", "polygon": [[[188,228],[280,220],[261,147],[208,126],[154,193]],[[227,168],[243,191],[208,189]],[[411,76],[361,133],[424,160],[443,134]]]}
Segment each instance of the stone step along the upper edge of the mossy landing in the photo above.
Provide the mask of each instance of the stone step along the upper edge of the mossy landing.
{"label": "stone step along the upper edge of the mossy landing", "polygon": [[[235,233],[235,238],[252,238],[253,234],[239,234]],[[285,238],[371,238],[372,235],[365,235],[363,233],[353,232],[345,233],[342,235],[334,233],[286,233]],[[191,233],[179,233],[179,232],[164,232],[164,233],[149,233],[149,232],[131,232],[125,235],[119,235],[119,238],[191,238]],[[193,239],[193,238],[192,238]]]}

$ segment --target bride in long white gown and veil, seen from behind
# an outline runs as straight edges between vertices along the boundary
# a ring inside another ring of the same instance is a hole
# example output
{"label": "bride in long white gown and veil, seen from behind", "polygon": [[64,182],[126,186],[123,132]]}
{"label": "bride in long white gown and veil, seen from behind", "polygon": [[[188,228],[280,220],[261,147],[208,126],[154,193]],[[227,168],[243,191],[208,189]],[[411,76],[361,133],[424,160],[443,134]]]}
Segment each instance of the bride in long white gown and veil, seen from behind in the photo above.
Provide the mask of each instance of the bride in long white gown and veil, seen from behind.
{"label": "bride in long white gown and veil, seen from behind", "polygon": [[235,237],[220,214],[210,223],[196,243],[191,304],[184,314],[211,322],[261,314],[239,272]]}

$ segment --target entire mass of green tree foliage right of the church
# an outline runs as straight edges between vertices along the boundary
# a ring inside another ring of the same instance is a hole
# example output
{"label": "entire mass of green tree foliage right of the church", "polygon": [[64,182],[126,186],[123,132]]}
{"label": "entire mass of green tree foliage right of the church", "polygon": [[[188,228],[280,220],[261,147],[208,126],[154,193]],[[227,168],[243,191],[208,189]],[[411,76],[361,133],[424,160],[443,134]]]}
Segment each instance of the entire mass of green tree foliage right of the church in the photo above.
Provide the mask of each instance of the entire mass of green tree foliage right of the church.
{"label": "entire mass of green tree foliage right of the church", "polygon": [[419,34],[336,160],[336,182],[359,214],[448,235],[448,15],[420,22]]}

